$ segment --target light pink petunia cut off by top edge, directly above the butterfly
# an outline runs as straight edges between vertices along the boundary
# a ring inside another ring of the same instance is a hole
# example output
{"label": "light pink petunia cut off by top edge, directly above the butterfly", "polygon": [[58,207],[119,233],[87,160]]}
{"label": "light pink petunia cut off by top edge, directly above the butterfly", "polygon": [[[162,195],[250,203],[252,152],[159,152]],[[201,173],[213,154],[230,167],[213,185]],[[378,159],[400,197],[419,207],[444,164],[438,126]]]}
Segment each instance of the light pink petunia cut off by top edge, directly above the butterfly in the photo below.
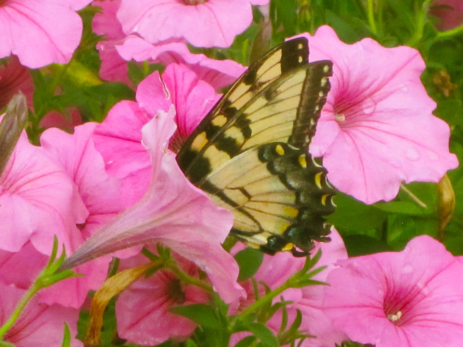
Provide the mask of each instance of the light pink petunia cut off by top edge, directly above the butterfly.
{"label": "light pink petunia cut off by top edge, directly above the butterfly", "polygon": [[246,0],[122,0],[117,17],[126,34],[151,43],[184,38],[197,47],[229,47],[251,24],[252,7]]}

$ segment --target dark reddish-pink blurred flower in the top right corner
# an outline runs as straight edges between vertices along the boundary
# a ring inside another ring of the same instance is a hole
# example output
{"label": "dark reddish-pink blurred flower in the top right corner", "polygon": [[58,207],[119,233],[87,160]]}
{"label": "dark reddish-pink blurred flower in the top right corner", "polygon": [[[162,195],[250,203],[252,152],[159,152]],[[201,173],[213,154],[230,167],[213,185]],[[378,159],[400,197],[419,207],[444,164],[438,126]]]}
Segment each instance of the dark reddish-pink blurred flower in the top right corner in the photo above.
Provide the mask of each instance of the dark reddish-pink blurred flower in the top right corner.
{"label": "dark reddish-pink blurred flower in the top right corner", "polygon": [[436,28],[449,30],[463,25],[463,2],[461,0],[433,1],[429,13],[438,17]]}

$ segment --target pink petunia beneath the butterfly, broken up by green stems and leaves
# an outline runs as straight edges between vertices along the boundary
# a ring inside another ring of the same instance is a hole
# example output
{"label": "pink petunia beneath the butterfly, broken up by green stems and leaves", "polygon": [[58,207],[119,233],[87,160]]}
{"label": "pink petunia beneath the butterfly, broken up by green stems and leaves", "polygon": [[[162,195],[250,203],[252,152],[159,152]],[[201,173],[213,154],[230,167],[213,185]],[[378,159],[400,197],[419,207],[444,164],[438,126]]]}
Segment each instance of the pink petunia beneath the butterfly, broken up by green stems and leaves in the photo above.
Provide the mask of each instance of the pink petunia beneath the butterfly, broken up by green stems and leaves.
{"label": "pink petunia beneath the butterfly, broken up by green stems and leaves", "polygon": [[[327,266],[325,270],[313,277],[313,279],[318,281],[326,281],[328,273],[335,268],[334,263],[336,261],[347,259],[344,242],[336,229],[332,228],[330,237],[332,238],[331,242],[319,243],[313,251],[322,250],[322,256],[316,267]],[[241,245],[238,247],[242,248]],[[304,266],[305,260],[305,258],[295,258],[287,252],[277,253],[274,256],[264,254],[263,262],[254,275],[254,278],[258,283],[264,282],[273,290],[281,286],[295,272],[299,271]],[[240,308],[238,310],[249,306],[254,301],[254,287],[251,281],[247,280],[242,285],[246,289],[248,296],[246,300],[240,301]],[[300,329],[306,330],[306,334],[316,336],[315,338],[307,338],[301,345],[303,347],[332,347],[335,343],[340,343],[347,339],[347,336],[341,330],[333,326],[331,319],[322,310],[324,289],[325,287],[321,285],[290,288],[283,291],[279,297],[274,299],[274,304],[280,301],[281,297],[285,301],[292,301],[292,304],[287,305],[288,326],[294,321],[296,311],[301,311],[302,322]],[[259,291],[260,296],[265,295],[263,285],[259,286]],[[281,322],[282,313],[281,310],[278,310],[266,324],[276,334],[281,326]],[[232,335],[230,346],[234,346],[246,335],[246,333]]]}

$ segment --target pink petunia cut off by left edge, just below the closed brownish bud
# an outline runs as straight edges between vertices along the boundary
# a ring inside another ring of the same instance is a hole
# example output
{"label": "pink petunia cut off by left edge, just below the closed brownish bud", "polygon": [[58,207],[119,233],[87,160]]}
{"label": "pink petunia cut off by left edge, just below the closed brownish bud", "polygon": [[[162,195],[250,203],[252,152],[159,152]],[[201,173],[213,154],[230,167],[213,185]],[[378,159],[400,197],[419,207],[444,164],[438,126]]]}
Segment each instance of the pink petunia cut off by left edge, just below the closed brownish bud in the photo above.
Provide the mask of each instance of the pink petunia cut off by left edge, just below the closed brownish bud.
{"label": "pink petunia cut off by left edge, just below the closed brownish bud", "polygon": [[0,176],[0,248],[17,252],[30,240],[48,255],[56,235],[70,249],[70,230],[87,214],[63,168],[29,143],[23,131]]}

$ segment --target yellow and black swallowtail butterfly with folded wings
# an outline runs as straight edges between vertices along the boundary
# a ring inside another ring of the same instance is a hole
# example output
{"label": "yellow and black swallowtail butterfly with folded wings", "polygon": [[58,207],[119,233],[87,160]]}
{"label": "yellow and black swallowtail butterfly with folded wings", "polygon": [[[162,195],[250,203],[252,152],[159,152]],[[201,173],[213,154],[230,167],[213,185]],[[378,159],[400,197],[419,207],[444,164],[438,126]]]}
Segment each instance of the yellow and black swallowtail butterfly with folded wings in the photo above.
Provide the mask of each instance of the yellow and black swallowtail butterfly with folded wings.
{"label": "yellow and black swallowtail butterfly with folded wings", "polygon": [[267,254],[305,256],[329,241],[335,190],[308,146],[330,90],[331,61],[308,62],[304,37],[252,64],[188,137],[177,162],[233,212],[231,235]]}

